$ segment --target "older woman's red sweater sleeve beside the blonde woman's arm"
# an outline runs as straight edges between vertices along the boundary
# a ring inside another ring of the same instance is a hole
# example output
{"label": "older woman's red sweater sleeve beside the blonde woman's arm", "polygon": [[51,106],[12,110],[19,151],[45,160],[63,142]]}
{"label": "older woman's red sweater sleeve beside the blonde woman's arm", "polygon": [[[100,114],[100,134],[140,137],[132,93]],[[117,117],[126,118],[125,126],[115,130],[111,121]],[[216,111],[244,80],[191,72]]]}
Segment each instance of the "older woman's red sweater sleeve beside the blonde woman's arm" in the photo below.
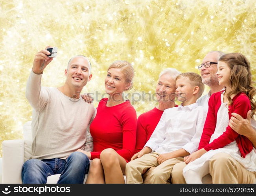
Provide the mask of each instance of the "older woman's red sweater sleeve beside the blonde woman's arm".
{"label": "older woman's red sweater sleeve beside the blonde woman's arm", "polygon": [[143,117],[140,115],[137,120],[136,147],[134,153],[139,152],[147,141],[147,132],[143,125],[143,120]]}

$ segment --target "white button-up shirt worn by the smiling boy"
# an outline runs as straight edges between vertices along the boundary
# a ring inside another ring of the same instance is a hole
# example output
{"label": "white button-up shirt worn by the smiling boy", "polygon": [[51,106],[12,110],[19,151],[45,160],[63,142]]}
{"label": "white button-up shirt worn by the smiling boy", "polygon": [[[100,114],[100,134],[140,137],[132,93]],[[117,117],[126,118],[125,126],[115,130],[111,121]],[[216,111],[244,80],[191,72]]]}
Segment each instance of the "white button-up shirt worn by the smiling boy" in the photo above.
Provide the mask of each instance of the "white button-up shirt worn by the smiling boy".
{"label": "white button-up shirt worn by the smiling boy", "polygon": [[197,103],[168,108],[144,147],[159,154],[183,148],[191,154],[197,150],[205,119],[206,110]]}

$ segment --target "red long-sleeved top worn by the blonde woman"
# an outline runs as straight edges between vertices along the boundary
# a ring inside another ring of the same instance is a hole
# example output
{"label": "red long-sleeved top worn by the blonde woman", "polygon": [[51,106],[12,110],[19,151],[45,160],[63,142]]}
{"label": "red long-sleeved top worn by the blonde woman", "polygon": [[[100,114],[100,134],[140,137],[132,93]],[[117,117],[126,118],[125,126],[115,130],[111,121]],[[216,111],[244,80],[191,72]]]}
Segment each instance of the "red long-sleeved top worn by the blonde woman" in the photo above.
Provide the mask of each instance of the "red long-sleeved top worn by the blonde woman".
{"label": "red long-sleeved top worn by the blonde woman", "polygon": [[91,159],[99,158],[102,150],[113,148],[129,162],[136,144],[136,111],[130,101],[107,107],[107,100],[101,99],[90,125],[94,148]]}

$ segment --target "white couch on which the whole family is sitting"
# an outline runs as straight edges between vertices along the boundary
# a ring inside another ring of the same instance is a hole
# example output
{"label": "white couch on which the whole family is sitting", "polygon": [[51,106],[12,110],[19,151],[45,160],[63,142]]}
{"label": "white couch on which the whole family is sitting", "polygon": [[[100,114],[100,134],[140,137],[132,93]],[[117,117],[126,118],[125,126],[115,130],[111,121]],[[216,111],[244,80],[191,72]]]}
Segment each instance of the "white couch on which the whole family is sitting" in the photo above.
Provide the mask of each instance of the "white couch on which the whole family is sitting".
{"label": "white couch on which the whole family is sitting", "polygon": [[[28,121],[23,126],[23,139],[20,140],[5,140],[2,142],[3,157],[0,158],[0,183],[19,184],[21,180],[22,165],[31,156],[32,134],[31,121]],[[87,141],[85,150],[91,152],[93,150],[92,136],[87,132]],[[1,168],[2,167],[2,168]],[[2,171],[2,174],[1,174]],[[47,183],[55,184],[59,180],[60,174],[48,176]],[[125,181],[126,178],[123,176]],[[87,174],[85,174],[85,181]],[[204,176],[203,183],[212,183],[210,174]],[[255,180],[256,183],[256,180]]]}

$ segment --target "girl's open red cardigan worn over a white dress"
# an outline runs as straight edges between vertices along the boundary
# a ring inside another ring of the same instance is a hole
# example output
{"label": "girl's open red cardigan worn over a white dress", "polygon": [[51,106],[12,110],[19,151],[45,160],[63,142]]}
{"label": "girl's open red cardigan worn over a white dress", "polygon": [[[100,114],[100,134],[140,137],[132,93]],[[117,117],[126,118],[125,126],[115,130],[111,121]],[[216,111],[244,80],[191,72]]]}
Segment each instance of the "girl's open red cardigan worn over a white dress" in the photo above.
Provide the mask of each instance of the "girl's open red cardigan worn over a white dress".
{"label": "girl's open red cardigan worn over a white dress", "polygon": [[[215,150],[217,148],[222,148],[232,141],[237,142],[239,150],[241,152],[241,156],[245,158],[245,156],[252,151],[252,143],[250,140],[242,135],[239,135],[237,132],[232,130],[230,126],[227,126],[227,129],[221,136],[217,139],[214,139],[212,143],[210,142],[210,138],[214,133],[216,121],[217,121],[217,112],[219,107],[221,106],[221,93],[217,92],[212,94],[209,99],[209,109],[206,117],[206,121],[204,123],[203,134],[201,136],[201,140],[199,143],[198,149],[204,148],[205,150]],[[241,117],[246,118],[247,112],[251,109],[250,100],[245,93],[238,93],[233,99],[233,103],[231,106],[228,106],[228,116],[231,118],[231,113],[235,112]]]}

